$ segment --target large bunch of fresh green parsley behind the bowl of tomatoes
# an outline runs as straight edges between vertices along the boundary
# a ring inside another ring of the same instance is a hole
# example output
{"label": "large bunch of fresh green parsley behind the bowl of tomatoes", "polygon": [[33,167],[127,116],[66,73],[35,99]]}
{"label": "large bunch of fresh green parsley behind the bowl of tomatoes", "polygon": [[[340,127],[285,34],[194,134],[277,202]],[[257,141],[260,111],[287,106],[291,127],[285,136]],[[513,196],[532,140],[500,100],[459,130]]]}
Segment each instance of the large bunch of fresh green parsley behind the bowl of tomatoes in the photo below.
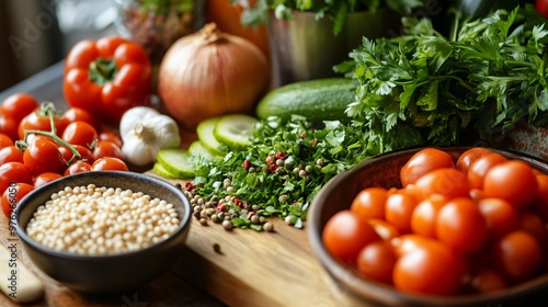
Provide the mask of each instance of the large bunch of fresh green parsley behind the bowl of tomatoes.
{"label": "large bunch of fresh green parsley behind the bowl of tomatoes", "polygon": [[470,129],[486,140],[521,121],[548,124],[548,32],[533,7],[455,19],[450,37],[429,19],[404,35],[363,39],[336,69],[359,82],[346,113],[388,149],[450,145]]}

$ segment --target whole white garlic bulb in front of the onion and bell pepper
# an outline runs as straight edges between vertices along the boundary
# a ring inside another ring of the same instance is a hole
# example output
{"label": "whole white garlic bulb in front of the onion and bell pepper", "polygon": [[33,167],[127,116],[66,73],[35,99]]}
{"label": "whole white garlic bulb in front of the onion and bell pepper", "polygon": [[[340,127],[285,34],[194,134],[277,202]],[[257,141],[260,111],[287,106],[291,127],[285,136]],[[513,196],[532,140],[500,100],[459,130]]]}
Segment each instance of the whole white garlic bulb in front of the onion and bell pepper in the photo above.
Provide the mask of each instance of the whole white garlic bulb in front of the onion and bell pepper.
{"label": "whole white garlic bulb in front of the onion and bell pepper", "polygon": [[137,167],[157,161],[158,151],[181,146],[176,122],[147,106],[128,110],[119,122],[122,156]]}

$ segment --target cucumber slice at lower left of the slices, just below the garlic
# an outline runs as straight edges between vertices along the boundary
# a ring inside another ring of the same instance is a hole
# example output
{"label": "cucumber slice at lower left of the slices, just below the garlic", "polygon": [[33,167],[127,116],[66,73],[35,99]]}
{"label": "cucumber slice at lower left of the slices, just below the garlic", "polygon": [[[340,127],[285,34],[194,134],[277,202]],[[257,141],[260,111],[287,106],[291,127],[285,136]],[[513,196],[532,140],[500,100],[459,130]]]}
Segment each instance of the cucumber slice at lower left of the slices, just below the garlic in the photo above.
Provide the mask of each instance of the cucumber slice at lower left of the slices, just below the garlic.
{"label": "cucumber slice at lower left of the slices, just below the garlic", "polygon": [[158,152],[158,163],[165,171],[179,179],[189,179],[195,175],[195,163],[189,151],[182,148],[162,149]]}

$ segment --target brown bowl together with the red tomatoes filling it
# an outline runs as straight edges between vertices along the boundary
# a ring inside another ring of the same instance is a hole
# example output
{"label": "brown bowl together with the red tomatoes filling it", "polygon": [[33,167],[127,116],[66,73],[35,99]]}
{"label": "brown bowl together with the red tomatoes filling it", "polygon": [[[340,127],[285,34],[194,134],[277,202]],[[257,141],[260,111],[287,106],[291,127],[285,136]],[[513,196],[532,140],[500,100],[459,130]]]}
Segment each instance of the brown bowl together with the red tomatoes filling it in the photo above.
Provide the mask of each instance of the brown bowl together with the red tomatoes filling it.
{"label": "brown bowl together with the red tomatoes filling it", "polygon": [[307,232],[352,304],[510,306],[548,303],[539,295],[548,287],[547,225],[546,161],[426,147],[333,178],[311,204]]}

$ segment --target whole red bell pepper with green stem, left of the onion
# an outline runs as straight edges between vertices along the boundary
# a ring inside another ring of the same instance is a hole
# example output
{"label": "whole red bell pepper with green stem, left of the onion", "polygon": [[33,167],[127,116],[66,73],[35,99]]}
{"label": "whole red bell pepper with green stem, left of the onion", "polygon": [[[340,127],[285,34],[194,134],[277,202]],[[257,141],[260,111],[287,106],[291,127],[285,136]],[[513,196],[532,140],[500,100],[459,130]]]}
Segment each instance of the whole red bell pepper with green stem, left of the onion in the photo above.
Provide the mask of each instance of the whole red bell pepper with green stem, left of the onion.
{"label": "whole red bell pepper with green stem, left of the onion", "polygon": [[118,36],[77,43],[65,60],[67,103],[104,122],[118,123],[128,109],[147,105],[152,66],[145,49]]}

